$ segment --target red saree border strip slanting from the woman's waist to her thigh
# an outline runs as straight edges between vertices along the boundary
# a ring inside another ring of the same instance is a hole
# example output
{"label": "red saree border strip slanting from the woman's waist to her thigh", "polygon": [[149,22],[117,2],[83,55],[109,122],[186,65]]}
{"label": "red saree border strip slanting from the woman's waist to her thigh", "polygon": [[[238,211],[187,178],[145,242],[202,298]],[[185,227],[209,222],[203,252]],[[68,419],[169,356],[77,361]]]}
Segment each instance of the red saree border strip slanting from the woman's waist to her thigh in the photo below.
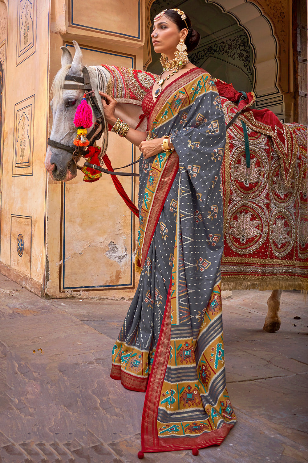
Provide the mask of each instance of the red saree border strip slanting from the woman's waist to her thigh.
{"label": "red saree border strip slanting from the woman's waist to her thigh", "polygon": [[141,268],[145,263],[148,255],[151,240],[153,238],[157,223],[162,213],[165,200],[169,194],[172,183],[179,170],[179,156],[173,152],[167,159],[163,171],[157,183],[156,192],[152,200],[151,209],[148,213],[148,219],[145,225],[145,233],[141,246]]}

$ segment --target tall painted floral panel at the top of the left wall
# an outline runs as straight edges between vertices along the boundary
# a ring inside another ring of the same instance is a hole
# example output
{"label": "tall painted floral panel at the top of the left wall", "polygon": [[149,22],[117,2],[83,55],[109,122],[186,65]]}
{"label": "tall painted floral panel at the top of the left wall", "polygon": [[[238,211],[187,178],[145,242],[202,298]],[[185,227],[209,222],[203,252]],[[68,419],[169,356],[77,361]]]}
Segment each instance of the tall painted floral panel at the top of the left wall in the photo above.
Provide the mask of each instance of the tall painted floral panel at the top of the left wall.
{"label": "tall painted floral panel at the top of the left wall", "polygon": [[36,51],[36,1],[18,3],[16,66]]}

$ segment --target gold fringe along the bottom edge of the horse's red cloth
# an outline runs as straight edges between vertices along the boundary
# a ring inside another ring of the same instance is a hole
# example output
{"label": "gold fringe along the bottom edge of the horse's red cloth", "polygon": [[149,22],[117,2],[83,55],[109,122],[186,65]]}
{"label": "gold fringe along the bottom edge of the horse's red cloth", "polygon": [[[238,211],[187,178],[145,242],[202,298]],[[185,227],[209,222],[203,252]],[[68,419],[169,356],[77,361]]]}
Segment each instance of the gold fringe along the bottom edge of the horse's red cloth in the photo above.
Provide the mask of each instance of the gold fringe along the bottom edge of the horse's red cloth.
{"label": "gold fringe along the bottom edge of the horse's red cloth", "polygon": [[245,280],[239,280],[239,281],[232,281],[232,282],[226,282],[222,281],[222,286],[221,286],[222,291],[226,291],[229,289],[229,291],[232,291],[232,289],[260,289],[260,291],[266,291],[267,289],[273,290],[273,289],[284,289],[284,290],[292,290],[292,289],[298,289],[302,290],[304,294],[307,294],[308,291],[308,282],[286,282],[285,280],[275,280],[275,281],[245,281]]}

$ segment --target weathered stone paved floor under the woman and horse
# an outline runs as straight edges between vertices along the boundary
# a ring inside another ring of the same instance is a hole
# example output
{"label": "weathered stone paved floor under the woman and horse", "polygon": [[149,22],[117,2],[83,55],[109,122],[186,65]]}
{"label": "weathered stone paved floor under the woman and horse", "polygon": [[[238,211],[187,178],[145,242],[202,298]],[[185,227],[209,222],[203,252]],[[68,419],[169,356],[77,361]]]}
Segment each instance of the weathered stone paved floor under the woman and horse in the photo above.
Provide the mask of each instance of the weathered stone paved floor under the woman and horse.
{"label": "weathered stone paved floor under the woman and horse", "polygon": [[[284,291],[281,328],[266,333],[269,294],[233,291],[223,301],[228,391],[238,418],[223,444],[198,457],[145,454],[144,462],[308,462],[307,302]],[[128,306],[44,300],[0,275],[0,463],[139,461],[144,394],[109,377]]]}

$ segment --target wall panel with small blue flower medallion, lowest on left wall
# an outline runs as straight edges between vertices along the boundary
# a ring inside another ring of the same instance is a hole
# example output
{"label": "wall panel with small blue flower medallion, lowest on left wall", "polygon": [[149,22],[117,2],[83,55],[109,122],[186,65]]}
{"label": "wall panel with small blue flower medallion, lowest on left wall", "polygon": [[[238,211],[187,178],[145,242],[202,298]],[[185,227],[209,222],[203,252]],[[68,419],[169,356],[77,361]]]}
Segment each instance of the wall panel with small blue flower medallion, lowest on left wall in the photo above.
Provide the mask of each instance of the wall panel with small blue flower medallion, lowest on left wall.
{"label": "wall panel with small blue flower medallion, lowest on left wall", "polygon": [[32,217],[11,215],[10,265],[31,277]]}

